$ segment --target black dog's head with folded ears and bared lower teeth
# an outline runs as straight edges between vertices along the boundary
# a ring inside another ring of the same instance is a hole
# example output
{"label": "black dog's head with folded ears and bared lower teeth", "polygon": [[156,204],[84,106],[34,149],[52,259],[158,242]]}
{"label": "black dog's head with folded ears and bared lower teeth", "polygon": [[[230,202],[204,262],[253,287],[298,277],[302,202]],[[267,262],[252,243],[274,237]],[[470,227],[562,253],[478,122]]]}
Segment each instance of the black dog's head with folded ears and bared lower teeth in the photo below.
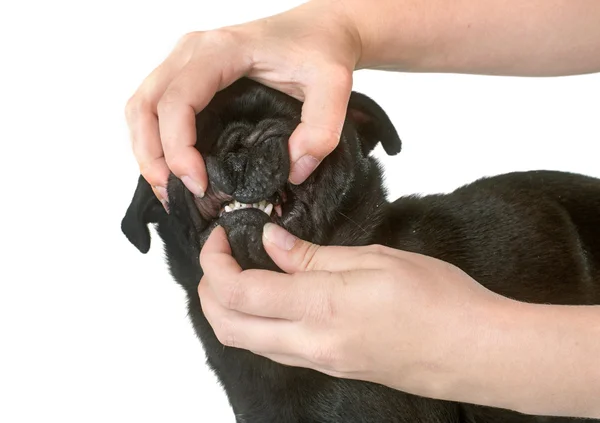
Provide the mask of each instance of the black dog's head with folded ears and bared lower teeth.
{"label": "black dog's head with folded ears and bared lower teeth", "polygon": [[140,176],[121,225],[127,238],[145,253],[147,225],[158,223],[169,259],[187,256],[197,265],[202,245],[220,225],[242,268],[275,270],[262,246],[267,222],[319,244],[331,242],[340,225],[351,222],[336,242],[358,243],[364,224],[376,220],[385,200],[379,168],[368,155],[380,142],[388,154],[398,153],[398,134],[373,100],[353,92],[339,145],[303,184],[293,185],[287,181],[288,139],[300,122],[301,107],[248,79],[217,93],[196,119],[196,148],[209,178],[205,196],[195,197],[171,175],[167,214]]}

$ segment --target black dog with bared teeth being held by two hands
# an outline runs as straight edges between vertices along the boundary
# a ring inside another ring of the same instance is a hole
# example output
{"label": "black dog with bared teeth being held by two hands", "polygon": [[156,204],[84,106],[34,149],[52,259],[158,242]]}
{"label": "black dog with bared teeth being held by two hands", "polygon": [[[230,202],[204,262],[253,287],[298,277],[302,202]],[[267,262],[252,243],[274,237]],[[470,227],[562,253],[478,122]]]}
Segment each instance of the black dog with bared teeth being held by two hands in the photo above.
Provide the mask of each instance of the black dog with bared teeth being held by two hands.
{"label": "black dog with bared teeth being held by two hands", "polygon": [[167,214],[140,177],[122,222],[143,253],[150,248],[147,225],[157,223],[171,274],[187,292],[195,330],[237,421],[570,421],[421,398],[284,367],[219,343],[197,295],[198,256],[217,223],[243,268],[278,270],[261,241],[263,225],[273,221],[321,245],[377,243],[437,257],[522,301],[600,303],[600,180],[551,171],[511,173],[449,195],[389,203],[382,171],[368,155],[379,142],[396,154],[400,139],[375,102],[353,93],[339,146],[304,184],[294,186],[287,183],[287,145],[300,108],[298,101],[246,79],[218,93],[197,116],[197,148],[210,180],[206,196],[195,198],[171,177]]}

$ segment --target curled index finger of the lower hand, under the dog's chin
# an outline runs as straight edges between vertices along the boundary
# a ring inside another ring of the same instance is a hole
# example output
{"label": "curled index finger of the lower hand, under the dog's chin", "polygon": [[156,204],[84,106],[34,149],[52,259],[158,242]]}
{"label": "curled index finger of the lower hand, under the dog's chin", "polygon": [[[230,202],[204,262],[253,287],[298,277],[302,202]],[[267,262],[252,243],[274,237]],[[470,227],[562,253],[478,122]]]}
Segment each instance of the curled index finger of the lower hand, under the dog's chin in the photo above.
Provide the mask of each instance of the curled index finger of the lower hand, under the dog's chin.
{"label": "curled index finger of the lower hand, under the dog's chin", "polygon": [[[230,310],[254,316],[301,320],[325,284],[318,272],[306,278],[268,270],[242,270],[231,255],[225,231],[213,230],[200,253],[204,280],[219,302]],[[326,277],[328,275],[325,275]]]}

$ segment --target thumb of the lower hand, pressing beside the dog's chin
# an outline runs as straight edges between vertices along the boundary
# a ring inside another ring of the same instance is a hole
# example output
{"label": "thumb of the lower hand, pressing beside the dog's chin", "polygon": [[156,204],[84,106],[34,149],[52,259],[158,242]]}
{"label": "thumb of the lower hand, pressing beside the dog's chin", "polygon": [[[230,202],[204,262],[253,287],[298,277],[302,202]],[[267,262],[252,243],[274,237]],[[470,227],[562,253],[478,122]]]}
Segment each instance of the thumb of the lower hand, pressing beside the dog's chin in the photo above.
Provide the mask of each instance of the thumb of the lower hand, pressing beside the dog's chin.
{"label": "thumb of the lower hand, pressing beside the dog's chin", "polygon": [[356,267],[356,258],[360,255],[360,247],[313,244],[295,237],[274,223],[265,225],[263,245],[275,264],[286,273],[346,271]]}

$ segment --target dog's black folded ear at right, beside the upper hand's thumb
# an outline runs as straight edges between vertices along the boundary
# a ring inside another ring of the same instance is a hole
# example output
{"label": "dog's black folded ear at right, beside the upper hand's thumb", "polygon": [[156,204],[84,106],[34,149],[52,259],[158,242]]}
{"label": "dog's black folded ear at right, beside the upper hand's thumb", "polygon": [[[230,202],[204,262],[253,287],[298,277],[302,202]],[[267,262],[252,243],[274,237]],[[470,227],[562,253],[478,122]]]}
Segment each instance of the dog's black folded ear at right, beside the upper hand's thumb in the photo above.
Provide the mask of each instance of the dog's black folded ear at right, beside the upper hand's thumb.
{"label": "dog's black folded ear at right, beside the upper hand's thumb", "polygon": [[347,119],[356,127],[365,156],[380,142],[388,155],[400,152],[402,141],[392,121],[379,104],[366,95],[352,91]]}

